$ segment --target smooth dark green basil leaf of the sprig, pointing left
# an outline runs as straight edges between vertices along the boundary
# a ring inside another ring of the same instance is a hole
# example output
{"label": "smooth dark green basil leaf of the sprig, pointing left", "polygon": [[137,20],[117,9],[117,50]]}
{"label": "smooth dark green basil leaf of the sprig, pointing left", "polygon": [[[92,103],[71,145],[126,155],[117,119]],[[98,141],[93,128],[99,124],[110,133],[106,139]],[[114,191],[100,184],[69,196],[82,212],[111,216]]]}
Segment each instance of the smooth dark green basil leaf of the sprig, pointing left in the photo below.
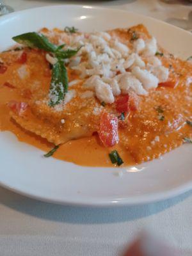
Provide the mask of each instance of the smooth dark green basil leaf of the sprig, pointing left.
{"label": "smooth dark green basil leaf of the sprig, pointing left", "polygon": [[57,49],[57,46],[49,42],[46,36],[36,32],[13,36],[12,39],[19,44],[23,44],[31,48],[35,47],[48,52],[54,52]]}

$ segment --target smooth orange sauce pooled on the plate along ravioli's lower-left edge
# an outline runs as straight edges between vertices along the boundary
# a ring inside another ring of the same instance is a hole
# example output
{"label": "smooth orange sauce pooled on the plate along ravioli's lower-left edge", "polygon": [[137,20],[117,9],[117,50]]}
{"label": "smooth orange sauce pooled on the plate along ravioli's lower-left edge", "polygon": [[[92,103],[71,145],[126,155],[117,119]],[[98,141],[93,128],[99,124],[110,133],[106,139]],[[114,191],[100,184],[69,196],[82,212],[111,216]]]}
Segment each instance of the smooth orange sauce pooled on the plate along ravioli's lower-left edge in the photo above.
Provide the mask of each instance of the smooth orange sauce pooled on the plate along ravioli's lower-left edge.
{"label": "smooth orange sauce pooled on the plate along ravioli's lower-left edge", "polygon": [[[1,76],[0,76],[1,81]],[[1,84],[1,82],[0,82]],[[54,144],[49,143],[46,139],[37,136],[32,132],[22,129],[12,118],[10,118],[10,109],[7,103],[10,100],[22,100],[14,89],[0,86],[0,130],[13,132],[19,141],[28,143],[34,147],[40,148],[45,152],[49,152],[54,147]],[[114,148],[105,148],[101,145],[97,135],[79,140],[68,141],[58,148],[53,157],[68,161],[83,166],[111,166],[109,160],[109,152],[117,149],[125,163],[133,163],[131,156],[127,154],[120,145]],[[45,159],[46,160],[46,159]]]}

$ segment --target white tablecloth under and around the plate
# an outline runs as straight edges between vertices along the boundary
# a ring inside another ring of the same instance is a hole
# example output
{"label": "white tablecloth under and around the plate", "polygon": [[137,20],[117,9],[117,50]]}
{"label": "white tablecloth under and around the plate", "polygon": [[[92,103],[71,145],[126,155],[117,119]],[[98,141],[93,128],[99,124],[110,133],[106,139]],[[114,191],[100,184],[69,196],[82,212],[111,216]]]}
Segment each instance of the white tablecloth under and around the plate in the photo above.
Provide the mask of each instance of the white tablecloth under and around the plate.
{"label": "white tablecloth under and around the plate", "polygon": [[[16,11],[51,4],[86,4],[132,10],[192,29],[188,1],[4,0]],[[0,188],[0,254],[120,255],[142,230],[150,230],[192,255],[192,191],[155,204],[90,209],[39,202]]]}

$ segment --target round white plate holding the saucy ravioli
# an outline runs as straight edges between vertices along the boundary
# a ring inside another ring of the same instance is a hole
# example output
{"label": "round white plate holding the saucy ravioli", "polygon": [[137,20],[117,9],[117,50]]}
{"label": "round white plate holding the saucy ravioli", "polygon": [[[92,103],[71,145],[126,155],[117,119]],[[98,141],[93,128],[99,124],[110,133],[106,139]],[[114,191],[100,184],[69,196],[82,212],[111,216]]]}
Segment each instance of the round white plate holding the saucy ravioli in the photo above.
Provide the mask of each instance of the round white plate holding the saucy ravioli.
{"label": "round white plate holding the saucy ravioli", "polygon": [[[0,51],[12,36],[28,31],[75,26],[83,31],[122,28],[143,23],[170,52],[192,55],[190,33],[131,12],[90,6],[48,6],[0,18]],[[90,168],[45,159],[43,152],[0,132],[0,183],[27,196],[74,205],[144,204],[178,195],[192,188],[191,145],[149,163],[127,168]],[[74,153],[75,154],[75,153]],[[124,172],[122,177],[118,172]]]}

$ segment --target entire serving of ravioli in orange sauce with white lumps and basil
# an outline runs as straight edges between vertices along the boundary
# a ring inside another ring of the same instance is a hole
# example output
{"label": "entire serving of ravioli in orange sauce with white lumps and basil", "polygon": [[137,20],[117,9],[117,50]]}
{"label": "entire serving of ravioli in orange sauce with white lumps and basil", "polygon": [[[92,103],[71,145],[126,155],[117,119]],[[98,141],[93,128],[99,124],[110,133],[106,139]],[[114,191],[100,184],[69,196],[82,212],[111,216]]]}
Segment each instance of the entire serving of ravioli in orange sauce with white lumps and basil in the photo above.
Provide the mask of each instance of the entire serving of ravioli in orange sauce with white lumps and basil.
{"label": "entire serving of ravioli in orange sauce with white lumps and basil", "polygon": [[191,58],[143,25],[43,28],[0,53],[0,129],[77,164],[142,163],[191,143]]}

